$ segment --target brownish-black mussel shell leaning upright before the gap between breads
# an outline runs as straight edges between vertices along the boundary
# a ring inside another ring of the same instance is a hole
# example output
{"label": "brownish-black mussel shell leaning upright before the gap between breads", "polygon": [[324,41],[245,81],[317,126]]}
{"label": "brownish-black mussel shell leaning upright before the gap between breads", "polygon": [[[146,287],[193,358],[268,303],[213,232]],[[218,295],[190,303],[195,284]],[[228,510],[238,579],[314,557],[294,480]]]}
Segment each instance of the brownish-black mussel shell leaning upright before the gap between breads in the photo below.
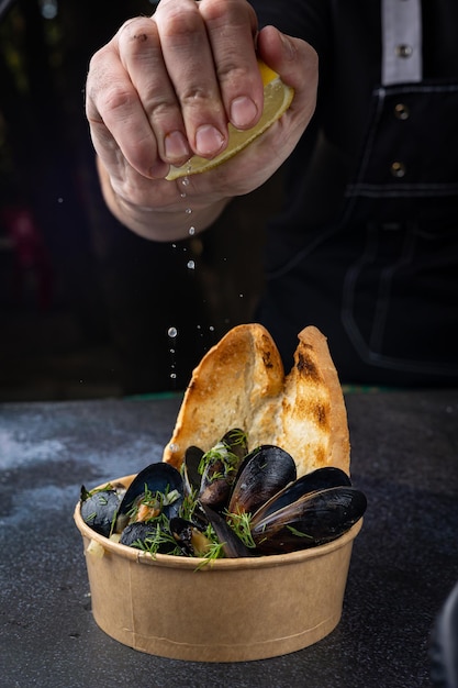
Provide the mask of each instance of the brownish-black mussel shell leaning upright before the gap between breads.
{"label": "brownish-black mussel shell leaning upright before the gap between breads", "polygon": [[243,460],[231,496],[231,513],[255,513],[297,478],[294,459],[284,450],[262,444]]}

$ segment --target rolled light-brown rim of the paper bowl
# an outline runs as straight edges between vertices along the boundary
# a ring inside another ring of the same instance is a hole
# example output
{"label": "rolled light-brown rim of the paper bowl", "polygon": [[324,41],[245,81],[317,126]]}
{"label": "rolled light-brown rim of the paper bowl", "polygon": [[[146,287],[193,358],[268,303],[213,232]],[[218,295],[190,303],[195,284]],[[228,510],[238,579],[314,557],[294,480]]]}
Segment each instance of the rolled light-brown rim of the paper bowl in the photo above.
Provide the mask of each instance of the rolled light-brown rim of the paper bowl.
{"label": "rolled light-brown rim of the paper bowl", "polygon": [[[121,478],[115,478],[113,480],[109,480],[102,482],[92,489],[100,489],[108,485],[112,484],[124,484],[129,485],[129,481],[132,481],[136,474],[123,476]],[[77,529],[81,533],[82,537],[94,541],[100,544],[104,551],[110,552],[111,554],[115,554],[121,558],[136,562],[138,564],[145,564],[148,566],[165,566],[169,568],[182,569],[182,570],[199,570],[202,573],[209,573],[214,570],[241,570],[241,569],[255,569],[255,568],[270,568],[275,566],[283,566],[287,564],[297,564],[303,562],[305,559],[316,559],[321,556],[325,556],[335,550],[339,550],[344,547],[346,544],[350,543],[358,535],[359,531],[362,528],[364,519],[359,519],[347,532],[345,532],[340,537],[333,540],[324,545],[317,545],[316,547],[309,547],[305,550],[297,550],[294,552],[289,552],[288,554],[269,554],[261,556],[253,556],[253,557],[235,557],[235,558],[221,558],[213,559],[208,562],[203,557],[186,557],[186,556],[176,556],[171,554],[156,554],[155,556],[150,555],[148,552],[143,552],[142,550],[136,550],[134,547],[129,547],[127,545],[122,545],[118,542],[101,535],[100,533],[92,530],[85,521],[82,520],[80,512],[80,501],[77,502],[74,511],[74,520]]]}

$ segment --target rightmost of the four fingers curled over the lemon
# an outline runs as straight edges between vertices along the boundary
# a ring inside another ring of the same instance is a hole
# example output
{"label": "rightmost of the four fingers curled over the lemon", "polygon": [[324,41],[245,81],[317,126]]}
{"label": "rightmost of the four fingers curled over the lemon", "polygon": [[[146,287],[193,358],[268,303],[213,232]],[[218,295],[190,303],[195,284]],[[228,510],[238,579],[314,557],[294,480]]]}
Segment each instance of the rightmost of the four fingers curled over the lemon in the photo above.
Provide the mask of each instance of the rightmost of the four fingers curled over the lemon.
{"label": "rightmost of the four fingers curled over the lemon", "polygon": [[244,0],[201,0],[209,41],[228,121],[250,129],[262,112],[262,82],[257,68],[257,19]]}

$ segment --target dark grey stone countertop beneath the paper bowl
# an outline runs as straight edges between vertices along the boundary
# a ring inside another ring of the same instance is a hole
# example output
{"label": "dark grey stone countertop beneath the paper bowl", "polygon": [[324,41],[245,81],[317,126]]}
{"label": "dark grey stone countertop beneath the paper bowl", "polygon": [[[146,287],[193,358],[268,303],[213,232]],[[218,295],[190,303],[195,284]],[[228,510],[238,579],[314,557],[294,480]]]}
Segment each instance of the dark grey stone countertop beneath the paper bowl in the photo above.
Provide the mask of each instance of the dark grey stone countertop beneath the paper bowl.
{"label": "dark grey stone countertop beneath the paper bowl", "polygon": [[0,404],[1,686],[429,686],[431,630],[458,580],[458,390],[346,402],[351,477],[369,506],[342,621],[311,647],[235,664],[145,655],[90,610],[80,486],[159,460],[180,398]]}

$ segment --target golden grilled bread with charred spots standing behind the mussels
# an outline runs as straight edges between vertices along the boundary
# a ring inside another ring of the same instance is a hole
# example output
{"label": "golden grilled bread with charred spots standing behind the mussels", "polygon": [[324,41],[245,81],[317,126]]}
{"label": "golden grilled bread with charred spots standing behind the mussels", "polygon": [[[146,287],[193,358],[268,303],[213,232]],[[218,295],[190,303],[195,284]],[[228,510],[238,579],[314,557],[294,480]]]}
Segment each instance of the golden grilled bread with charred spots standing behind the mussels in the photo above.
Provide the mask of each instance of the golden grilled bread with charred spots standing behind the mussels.
{"label": "golden grilled bread with charred spots standing behind the mussels", "polygon": [[194,369],[163,459],[179,468],[188,446],[206,452],[234,428],[247,433],[250,450],[276,444],[289,452],[298,476],[322,466],[349,474],[344,397],[326,339],[316,328],[300,332],[287,377],[262,325],[227,332]]}

